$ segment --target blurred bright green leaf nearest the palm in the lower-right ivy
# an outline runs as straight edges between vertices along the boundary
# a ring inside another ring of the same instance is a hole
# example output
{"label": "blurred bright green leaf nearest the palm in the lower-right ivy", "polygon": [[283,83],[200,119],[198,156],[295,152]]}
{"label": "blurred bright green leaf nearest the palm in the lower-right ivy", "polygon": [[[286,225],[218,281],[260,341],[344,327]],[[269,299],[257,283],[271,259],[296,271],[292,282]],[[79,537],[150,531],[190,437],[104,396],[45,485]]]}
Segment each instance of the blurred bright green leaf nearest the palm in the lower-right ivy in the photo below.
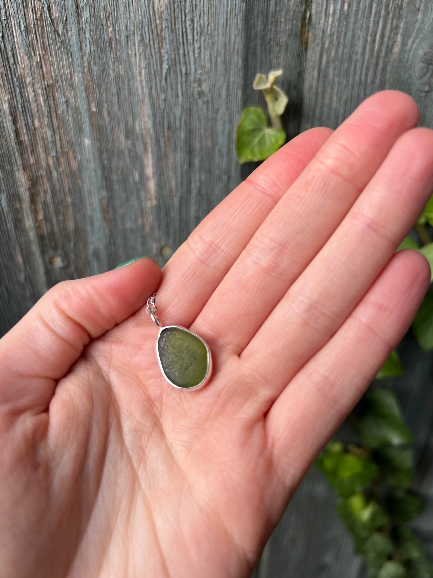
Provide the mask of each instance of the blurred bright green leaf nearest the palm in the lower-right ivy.
{"label": "blurred bright green leaf nearest the palm in the lower-right ivy", "polygon": [[349,498],[357,494],[379,475],[374,462],[360,455],[344,453],[343,446],[331,446],[316,460],[316,465],[324,473],[338,495]]}

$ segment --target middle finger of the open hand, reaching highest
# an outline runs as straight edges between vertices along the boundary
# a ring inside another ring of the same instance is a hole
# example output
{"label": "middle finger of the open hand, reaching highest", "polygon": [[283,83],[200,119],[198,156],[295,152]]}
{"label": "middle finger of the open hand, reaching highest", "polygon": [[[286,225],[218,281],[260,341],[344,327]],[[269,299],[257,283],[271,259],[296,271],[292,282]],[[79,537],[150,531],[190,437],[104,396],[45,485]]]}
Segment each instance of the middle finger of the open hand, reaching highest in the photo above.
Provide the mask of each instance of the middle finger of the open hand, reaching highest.
{"label": "middle finger of the open hand, reaching highest", "polygon": [[192,330],[222,344],[225,357],[240,354],[418,118],[415,102],[402,92],[379,92],[363,102],[268,215]]}

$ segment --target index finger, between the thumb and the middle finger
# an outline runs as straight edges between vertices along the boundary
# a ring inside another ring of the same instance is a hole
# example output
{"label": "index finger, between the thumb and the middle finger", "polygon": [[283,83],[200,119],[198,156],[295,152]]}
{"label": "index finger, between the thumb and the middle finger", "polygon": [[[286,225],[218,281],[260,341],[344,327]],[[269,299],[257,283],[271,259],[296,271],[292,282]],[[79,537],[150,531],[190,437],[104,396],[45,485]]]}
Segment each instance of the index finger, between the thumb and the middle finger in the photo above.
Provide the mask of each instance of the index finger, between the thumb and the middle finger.
{"label": "index finger, between the thumb and the middle finger", "polygon": [[314,128],[290,140],[201,221],[163,269],[157,300],[165,324],[191,325],[257,227],[331,133]]}

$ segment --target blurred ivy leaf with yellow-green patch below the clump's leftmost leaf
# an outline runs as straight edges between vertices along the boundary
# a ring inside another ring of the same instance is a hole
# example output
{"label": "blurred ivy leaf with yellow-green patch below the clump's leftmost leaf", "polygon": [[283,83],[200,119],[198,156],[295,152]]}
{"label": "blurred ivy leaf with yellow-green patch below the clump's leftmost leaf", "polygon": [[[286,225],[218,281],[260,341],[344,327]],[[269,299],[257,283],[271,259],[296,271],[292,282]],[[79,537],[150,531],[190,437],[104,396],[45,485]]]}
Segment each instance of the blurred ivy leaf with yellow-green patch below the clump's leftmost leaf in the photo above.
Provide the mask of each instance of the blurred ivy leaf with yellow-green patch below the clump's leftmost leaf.
{"label": "blurred ivy leaf with yellow-green patch below the clump's leftmost leaf", "polygon": [[367,502],[364,494],[339,498],[336,510],[353,536],[357,553],[360,553],[372,533],[389,523],[389,517],[379,504],[375,501]]}

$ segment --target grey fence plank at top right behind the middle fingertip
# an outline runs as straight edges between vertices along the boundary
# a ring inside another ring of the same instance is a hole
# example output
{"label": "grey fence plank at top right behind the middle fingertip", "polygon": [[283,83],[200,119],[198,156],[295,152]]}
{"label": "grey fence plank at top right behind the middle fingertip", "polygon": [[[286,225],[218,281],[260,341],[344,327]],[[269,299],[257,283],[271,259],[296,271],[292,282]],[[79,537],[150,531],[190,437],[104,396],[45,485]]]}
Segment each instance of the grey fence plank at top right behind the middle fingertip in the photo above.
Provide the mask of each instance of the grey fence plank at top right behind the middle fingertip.
{"label": "grey fence plank at top right behind the middle fingertip", "polygon": [[408,92],[433,127],[433,5],[428,0],[315,0],[301,129],[335,128],[378,90]]}

